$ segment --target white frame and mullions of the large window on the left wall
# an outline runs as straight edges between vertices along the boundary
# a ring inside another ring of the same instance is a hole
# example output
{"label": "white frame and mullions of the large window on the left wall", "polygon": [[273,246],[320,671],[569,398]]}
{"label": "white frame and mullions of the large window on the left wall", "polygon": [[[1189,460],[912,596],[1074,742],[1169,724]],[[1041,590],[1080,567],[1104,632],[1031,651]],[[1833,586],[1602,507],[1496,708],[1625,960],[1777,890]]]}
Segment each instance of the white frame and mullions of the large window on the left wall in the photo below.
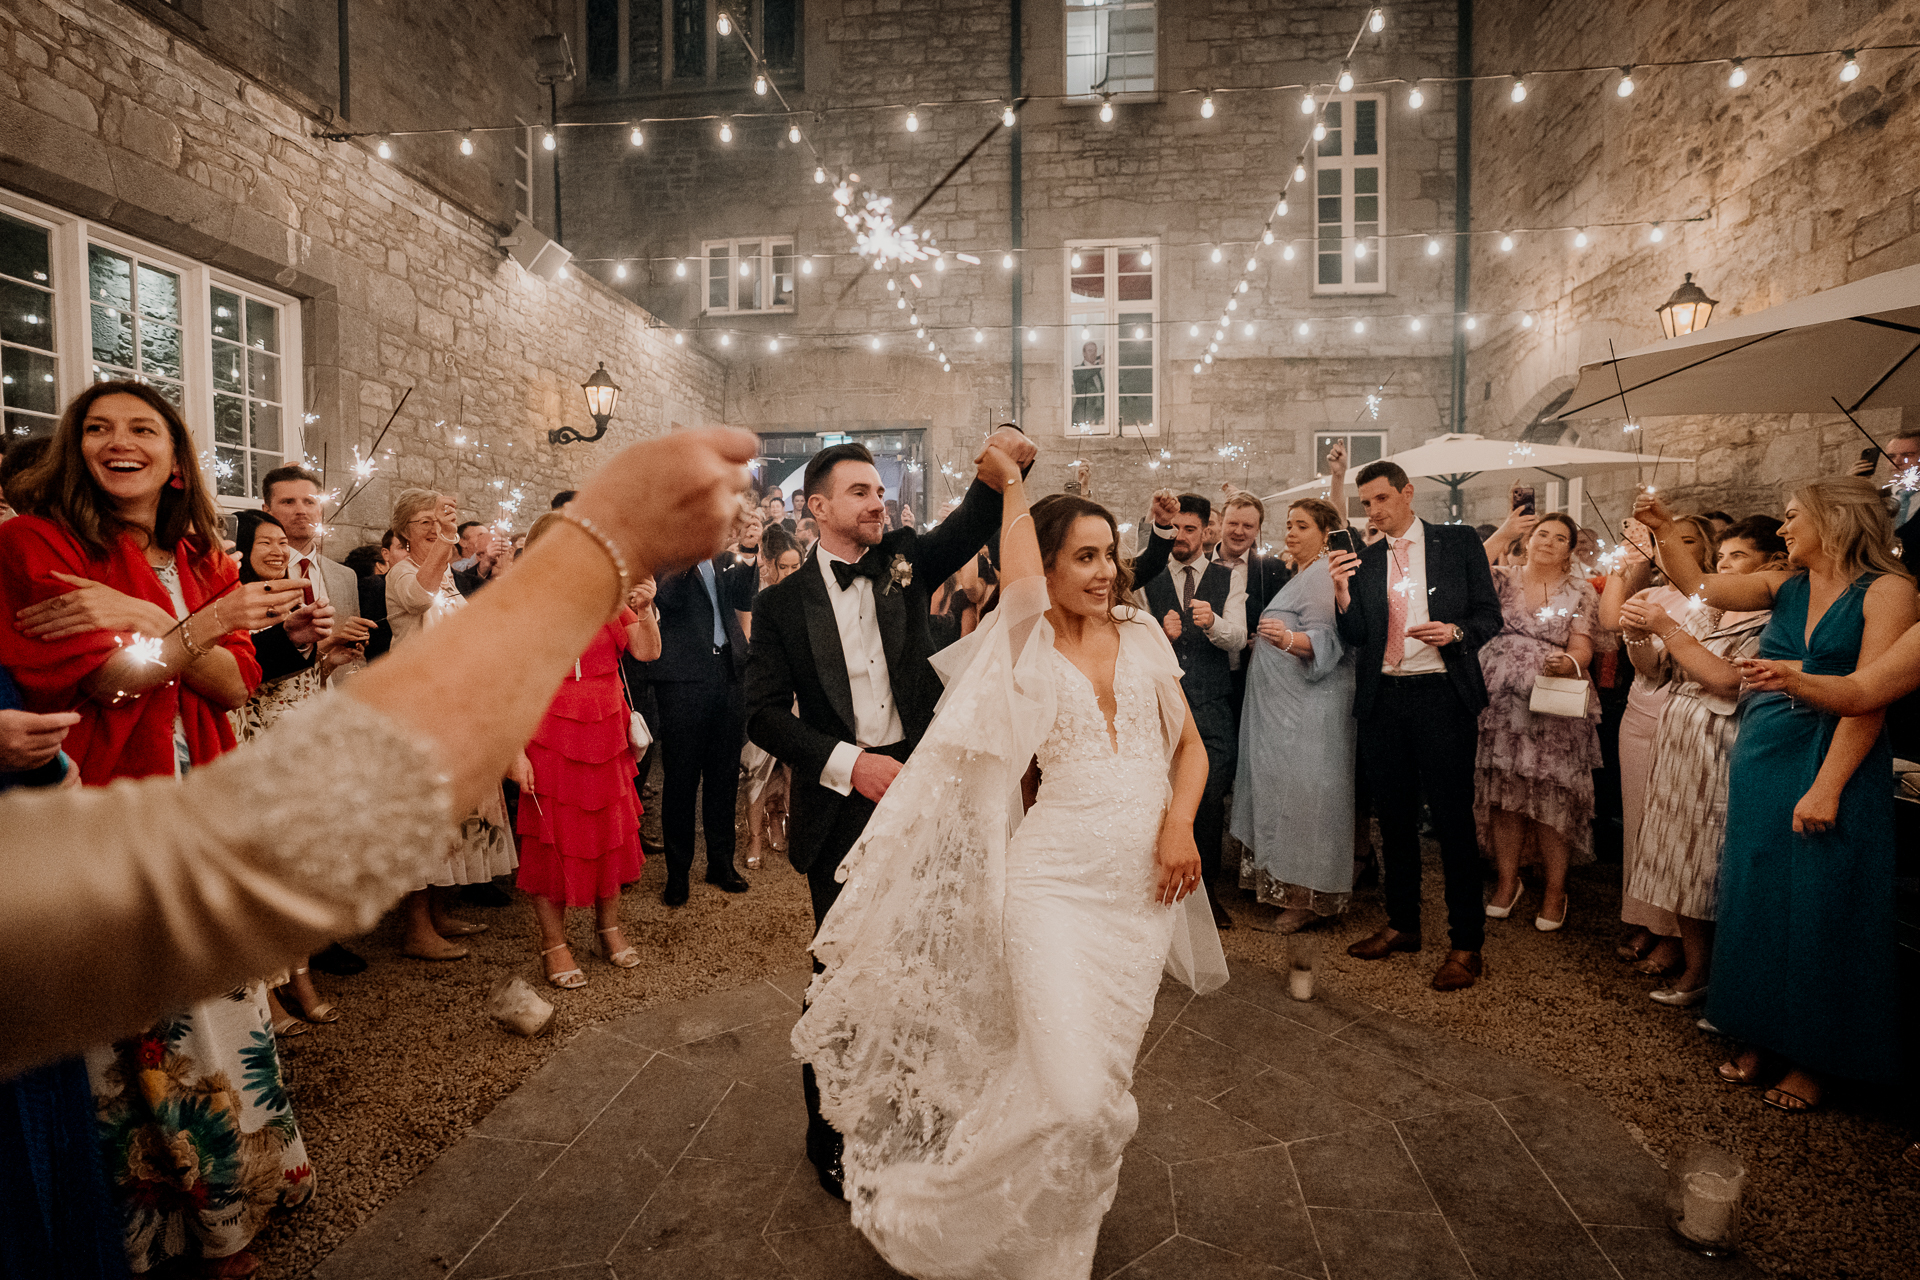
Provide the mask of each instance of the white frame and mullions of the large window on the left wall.
{"label": "white frame and mullions of the large window on the left wall", "polygon": [[[305,459],[305,347],[298,297],[227,274],[111,226],[77,219],[4,188],[0,188],[0,207],[52,232],[48,246],[52,271],[48,274],[54,276],[54,353],[61,409],[94,380],[86,248],[98,244],[115,253],[146,259],[180,276],[182,416],[194,434],[194,447],[202,459],[213,455],[213,301],[209,290],[217,286],[280,309],[280,449],[284,462]],[[257,491],[221,495],[215,491],[217,487],[217,480],[207,476],[207,489],[221,510],[259,507]]]}

